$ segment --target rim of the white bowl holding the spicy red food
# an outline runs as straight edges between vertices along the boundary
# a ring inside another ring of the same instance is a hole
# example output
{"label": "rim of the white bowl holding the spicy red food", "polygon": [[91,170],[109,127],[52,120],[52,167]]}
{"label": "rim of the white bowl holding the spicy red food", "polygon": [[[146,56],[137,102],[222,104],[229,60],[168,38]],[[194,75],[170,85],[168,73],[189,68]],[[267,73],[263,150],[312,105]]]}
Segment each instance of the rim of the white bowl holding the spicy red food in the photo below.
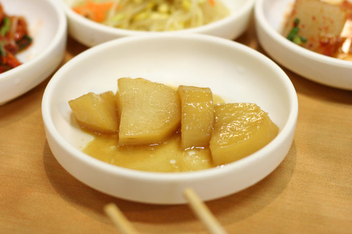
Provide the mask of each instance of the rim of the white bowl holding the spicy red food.
{"label": "rim of the white bowl holding the spicy red food", "polygon": [[[0,81],[8,80],[13,77],[18,72],[26,72],[30,70],[32,66],[35,64],[41,63],[45,60],[46,57],[53,54],[53,51],[60,45],[62,38],[66,35],[67,32],[67,19],[65,13],[61,9],[61,7],[56,3],[55,0],[40,0],[47,2],[55,11],[58,20],[58,30],[53,37],[53,40],[49,43],[49,45],[38,55],[33,57],[31,60],[21,64],[18,67],[15,67],[9,71],[6,71],[0,74]],[[35,38],[34,38],[35,39]]]}

